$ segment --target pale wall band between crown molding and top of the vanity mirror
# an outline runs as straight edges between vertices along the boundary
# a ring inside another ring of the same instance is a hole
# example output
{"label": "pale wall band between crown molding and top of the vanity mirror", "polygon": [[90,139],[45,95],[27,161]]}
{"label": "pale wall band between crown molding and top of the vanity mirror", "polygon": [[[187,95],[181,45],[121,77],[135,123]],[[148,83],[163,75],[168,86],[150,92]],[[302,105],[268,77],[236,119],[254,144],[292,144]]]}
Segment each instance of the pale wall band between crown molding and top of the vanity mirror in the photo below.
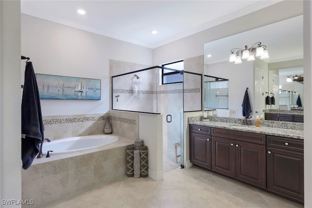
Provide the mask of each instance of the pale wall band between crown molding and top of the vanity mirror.
{"label": "pale wall band between crown molding and top of the vanity mirror", "polygon": [[[287,11],[287,12],[284,12]],[[153,65],[204,54],[204,43],[302,15],[302,1],[282,1],[154,49]],[[243,23],[242,23],[243,22]]]}

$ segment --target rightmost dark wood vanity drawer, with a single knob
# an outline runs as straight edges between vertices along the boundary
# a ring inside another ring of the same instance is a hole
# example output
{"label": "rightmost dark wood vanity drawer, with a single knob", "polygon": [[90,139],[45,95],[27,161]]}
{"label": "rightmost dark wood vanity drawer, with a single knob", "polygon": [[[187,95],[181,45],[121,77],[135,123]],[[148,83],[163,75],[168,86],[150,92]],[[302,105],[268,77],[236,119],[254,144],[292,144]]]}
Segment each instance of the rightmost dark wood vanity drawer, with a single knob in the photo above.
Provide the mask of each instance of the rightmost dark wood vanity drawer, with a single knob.
{"label": "rightmost dark wood vanity drawer, with a single knob", "polygon": [[303,152],[303,140],[301,139],[267,135],[267,146]]}

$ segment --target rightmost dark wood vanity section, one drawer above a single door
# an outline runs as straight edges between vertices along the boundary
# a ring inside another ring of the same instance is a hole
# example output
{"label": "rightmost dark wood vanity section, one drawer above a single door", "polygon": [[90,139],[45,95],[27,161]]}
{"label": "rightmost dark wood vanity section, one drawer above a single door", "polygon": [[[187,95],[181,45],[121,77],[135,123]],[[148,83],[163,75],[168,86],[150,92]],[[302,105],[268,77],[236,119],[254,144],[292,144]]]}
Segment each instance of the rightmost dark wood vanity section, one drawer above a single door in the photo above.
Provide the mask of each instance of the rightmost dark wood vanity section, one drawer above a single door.
{"label": "rightmost dark wood vanity section, one drawer above a single door", "polygon": [[303,140],[267,135],[267,189],[304,203]]}

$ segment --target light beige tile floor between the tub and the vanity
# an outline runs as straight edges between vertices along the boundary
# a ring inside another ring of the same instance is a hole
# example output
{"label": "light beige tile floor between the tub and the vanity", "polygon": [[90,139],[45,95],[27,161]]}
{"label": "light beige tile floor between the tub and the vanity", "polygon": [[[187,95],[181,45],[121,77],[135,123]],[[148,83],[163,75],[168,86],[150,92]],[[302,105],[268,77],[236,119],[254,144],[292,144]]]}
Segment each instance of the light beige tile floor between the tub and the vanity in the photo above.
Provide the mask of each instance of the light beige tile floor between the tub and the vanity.
{"label": "light beige tile floor between the tub and the vanity", "polygon": [[176,168],[164,179],[129,178],[87,190],[41,208],[303,208],[196,167]]}

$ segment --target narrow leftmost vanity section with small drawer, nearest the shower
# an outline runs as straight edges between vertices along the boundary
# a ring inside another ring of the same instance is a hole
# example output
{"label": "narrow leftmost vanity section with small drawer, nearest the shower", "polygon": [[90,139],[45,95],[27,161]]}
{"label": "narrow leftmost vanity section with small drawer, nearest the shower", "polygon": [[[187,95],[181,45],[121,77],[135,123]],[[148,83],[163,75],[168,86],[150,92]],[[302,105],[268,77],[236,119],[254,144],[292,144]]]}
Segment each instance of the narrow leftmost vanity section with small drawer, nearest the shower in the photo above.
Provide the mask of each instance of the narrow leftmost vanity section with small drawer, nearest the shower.
{"label": "narrow leftmost vanity section with small drawer, nearest the shower", "polygon": [[190,125],[190,159],[193,165],[211,169],[210,127]]}

